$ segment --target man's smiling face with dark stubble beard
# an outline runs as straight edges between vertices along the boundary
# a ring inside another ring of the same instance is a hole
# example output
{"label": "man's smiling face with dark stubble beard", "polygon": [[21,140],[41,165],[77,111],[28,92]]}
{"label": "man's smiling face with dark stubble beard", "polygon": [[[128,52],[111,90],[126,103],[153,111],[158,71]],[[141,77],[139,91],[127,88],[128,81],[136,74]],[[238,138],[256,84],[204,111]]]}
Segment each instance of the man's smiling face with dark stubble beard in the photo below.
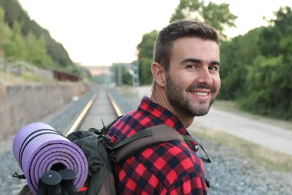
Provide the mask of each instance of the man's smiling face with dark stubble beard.
{"label": "man's smiling face with dark stubble beard", "polygon": [[206,115],[221,85],[218,44],[201,38],[174,41],[166,83],[167,99],[177,113]]}

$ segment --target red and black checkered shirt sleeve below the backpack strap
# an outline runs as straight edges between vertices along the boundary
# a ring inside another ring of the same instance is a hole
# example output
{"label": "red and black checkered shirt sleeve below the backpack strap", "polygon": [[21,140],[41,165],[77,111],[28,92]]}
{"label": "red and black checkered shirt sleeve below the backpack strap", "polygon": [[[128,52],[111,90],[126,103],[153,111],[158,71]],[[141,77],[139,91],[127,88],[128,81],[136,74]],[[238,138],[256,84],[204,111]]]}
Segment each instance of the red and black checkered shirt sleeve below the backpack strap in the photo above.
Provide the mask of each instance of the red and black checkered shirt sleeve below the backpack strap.
{"label": "red and black checkered shirt sleeve below the backpack strap", "polygon": [[121,194],[207,195],[200,157],[179,141],[147,148],[116,168]]}

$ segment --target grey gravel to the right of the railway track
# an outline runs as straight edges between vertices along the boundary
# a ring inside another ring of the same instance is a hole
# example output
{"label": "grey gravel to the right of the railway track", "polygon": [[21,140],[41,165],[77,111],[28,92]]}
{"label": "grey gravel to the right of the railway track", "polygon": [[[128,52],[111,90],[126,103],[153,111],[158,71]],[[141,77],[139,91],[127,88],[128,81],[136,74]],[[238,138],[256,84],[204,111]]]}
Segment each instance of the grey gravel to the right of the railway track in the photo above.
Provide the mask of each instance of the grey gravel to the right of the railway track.
{"label": "grey gravel to the right of the railway track", "polygon": [[[140,102],[140,99],[123,97],[121,91],[110,89],[110,92],[124,113],[136,109]],[[209,195],[292,195],[292,171],[268,172],[264,165],[231,148],[210,140],[199,139],[199,142],[212,161],[204,163],[206,177],[211,183]],[[201,151],[199,156],[203,156]]]}

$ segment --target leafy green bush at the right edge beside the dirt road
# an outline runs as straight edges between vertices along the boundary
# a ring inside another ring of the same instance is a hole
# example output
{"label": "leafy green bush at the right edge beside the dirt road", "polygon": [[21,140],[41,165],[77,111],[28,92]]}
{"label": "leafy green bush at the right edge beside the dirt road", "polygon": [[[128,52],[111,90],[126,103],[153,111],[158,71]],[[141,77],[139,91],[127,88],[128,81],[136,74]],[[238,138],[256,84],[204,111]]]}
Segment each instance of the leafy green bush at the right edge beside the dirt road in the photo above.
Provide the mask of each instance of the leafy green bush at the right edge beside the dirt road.
{"label": "leafy green bush at the right edge beside the dirt road", "polygon": [[291,74],[292,65],[285,64],[283,56],[258,56],[247,76],[248,96],[239,99],[239,105],[256,114],[291,119]]}

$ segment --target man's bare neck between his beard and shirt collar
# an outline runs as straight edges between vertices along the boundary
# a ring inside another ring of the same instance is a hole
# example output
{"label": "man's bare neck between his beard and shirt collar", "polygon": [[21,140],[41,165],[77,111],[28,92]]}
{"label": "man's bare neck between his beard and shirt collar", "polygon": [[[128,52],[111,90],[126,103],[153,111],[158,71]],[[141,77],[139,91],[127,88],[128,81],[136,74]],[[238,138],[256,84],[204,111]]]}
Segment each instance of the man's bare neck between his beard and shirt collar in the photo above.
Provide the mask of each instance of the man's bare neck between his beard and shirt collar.
{"label": "man's bare neck between his beard and shirt collar", "polygon": [[186,116],[181,112],[175,111],[175,109],[170,105],[167,100],[165,90],[153,89],[150,100],[163,106],[165,109],[169,110],[170,112],[172,112],[172,114],[177,116],[181,120],[185,128],[188,128],[193,123],[194,117]]}

